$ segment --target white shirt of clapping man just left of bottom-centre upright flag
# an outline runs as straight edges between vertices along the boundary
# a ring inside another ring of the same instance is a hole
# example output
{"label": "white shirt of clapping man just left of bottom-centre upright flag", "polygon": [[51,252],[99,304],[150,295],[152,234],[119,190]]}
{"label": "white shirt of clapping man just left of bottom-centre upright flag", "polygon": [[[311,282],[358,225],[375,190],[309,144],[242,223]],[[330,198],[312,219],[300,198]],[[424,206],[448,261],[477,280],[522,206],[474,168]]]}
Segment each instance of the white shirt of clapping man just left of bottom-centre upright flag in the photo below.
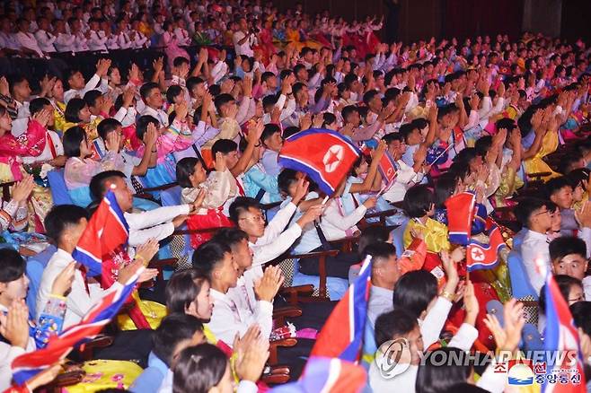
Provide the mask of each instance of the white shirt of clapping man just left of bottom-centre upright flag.
{"label": "white shirt of clapping man just left of bottom-centre upright flag", "polygon": [[233,345],[236,333],[243,336],[255,323],[260,326],[261,336],[270,336],[273,328],[273,304],[269,301],[257,301],[254,312],[251,312],[234,303],[234,295],[220,293],[215,289],[210,294],[214,301],[214,310],[207,327],[218,340]]}

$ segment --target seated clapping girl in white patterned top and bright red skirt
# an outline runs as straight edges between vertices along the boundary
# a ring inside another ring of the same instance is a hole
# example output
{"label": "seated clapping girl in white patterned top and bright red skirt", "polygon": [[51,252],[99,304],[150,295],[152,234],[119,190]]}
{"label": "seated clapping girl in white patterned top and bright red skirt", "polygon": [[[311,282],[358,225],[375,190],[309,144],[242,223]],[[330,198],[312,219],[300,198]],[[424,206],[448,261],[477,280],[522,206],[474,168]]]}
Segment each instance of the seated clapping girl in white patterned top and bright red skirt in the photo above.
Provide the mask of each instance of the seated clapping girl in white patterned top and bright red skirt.
{"label": "seated clapping girl in white patterned top and bright red skirt", "polygon": [[[222,153],[216,153],[215,170],[207,176],[203,162],[193,157],[185,157],[176,165],[176,178],[181,186],[181,202],[201,206],[196,214],[190,215],[187,227],[190,230],[231,226],[222,213],[228,197],[236,188],[236,181],[225,166]],[[200,202],[200,204],[198,203]],[[209,240],[211,233],[191,234],[191,246],[197,249],[199,244]]]}

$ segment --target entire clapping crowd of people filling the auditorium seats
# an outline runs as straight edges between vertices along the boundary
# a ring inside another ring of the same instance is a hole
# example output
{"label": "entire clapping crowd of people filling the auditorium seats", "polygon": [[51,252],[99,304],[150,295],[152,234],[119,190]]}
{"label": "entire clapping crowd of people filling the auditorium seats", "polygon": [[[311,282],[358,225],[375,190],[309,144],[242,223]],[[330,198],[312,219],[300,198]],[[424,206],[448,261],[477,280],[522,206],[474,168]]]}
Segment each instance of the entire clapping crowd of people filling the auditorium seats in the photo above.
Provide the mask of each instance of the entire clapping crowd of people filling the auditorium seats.
{"label": "entire clapping crowd of people filling the auditorium seats", "polygon": [[[493,364],[469,387],[471,367],[436,367],[423,353],[442,342],[459,354],[524,349],[523,300],[540,302],[527,322],[542,339],[545,270],[591,359],[585,42],[525,33],[387,44],[377,18],[349,23],[260,0],[9,1],[2,13],[0,58],[49,73],[0,78],[0,389],[29,391],[80,368],[85,389],[142,393],[264,390],[278,364],[296,380],[366,255],[366,355],[396,338],[411,352],[409,370],[391,379],[366,362],[366,389],[503,391],[507,374]],[[129,48],[163,56],[148,67],[111,61]],[[90,77],[60,57],[88,51],[100,52]],[[362,152],[330,198],[278,160],[287,137],[311,128]],[[110,192],[128,249],[103,256],[108,267],[93,277],[72,254]],[[488,244],[495,222],[506,243],[493,269],[469,277],[446,205],[465,192],[476,200],[472,238]],[[343,239],[353,247],[321,263],[318,253]],[[330,300],[298,304],[286,327],[274,310],[287,304],[287,272],[276,266],[287,252],[305,255],[289,281],[328,277]],[[175,272],[142,271],[138,282],[152,287],[134,295],[92,362],[75,351],[13,384],[13,359],[158,257],[177,258]],[[504,310],[488,315],[490,301]],[[295,346],[269,360],[286,335]]]}

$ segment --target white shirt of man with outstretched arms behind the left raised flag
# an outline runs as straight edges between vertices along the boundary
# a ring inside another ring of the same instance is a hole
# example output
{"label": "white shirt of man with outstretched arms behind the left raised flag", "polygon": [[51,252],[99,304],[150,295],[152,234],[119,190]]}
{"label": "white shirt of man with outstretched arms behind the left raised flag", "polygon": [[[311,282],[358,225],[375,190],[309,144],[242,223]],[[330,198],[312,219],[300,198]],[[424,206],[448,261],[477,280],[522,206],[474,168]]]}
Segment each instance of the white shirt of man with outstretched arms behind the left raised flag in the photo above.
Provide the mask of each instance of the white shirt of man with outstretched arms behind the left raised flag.
{"label": "white shirt of man with outstretched arms behind the left raised flag", "polygon": [[142,213],[124,213],[129,225],[129,246],[136,247],[147,240],[163,240],[172,235],[172,220],[181,214],[189,214],[189,205],[164,206]]}

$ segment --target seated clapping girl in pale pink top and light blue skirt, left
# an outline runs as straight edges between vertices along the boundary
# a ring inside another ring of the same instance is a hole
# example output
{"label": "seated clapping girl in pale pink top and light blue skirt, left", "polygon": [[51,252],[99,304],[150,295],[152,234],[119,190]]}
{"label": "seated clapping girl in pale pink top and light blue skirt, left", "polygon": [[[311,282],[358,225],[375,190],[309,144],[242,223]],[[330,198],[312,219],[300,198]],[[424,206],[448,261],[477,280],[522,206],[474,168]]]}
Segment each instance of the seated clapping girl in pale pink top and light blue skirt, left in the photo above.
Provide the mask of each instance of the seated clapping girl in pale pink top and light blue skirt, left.
{"label": "seated clapping girl in pale pink top and light blue skirt, left", "polygon": [[[75,100],[75,99],[73,99]],[[110,133],[105,142],[107,153],[99,161],[89,158],[91,144],[83,127],[71,127],[64,134],[64,154],[68,157],[64,170],[66,188],[75,205],[87,206],[93,202],[88,188],[91,179],[105,170],[125,170],[119,153],[119,134]]]}

